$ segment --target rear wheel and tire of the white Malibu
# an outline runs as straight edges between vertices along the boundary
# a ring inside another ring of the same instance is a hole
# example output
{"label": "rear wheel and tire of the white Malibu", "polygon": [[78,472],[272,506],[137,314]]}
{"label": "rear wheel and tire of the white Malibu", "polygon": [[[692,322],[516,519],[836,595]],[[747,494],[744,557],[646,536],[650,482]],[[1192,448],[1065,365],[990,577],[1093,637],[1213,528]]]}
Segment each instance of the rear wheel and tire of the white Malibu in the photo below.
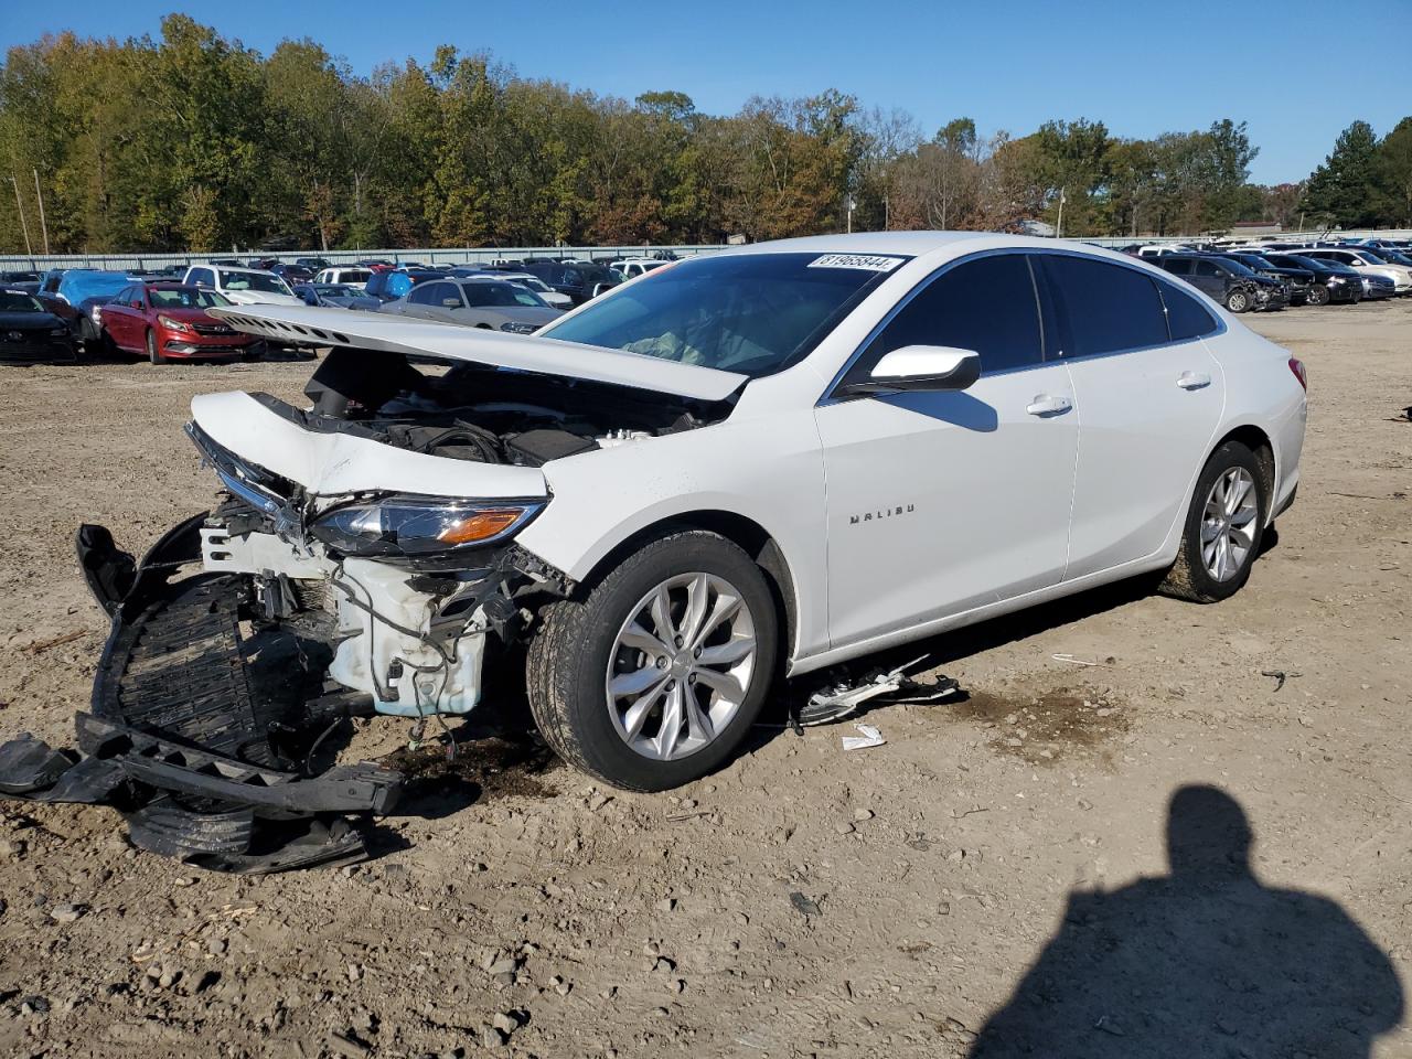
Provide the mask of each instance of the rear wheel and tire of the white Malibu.
{"label": "rear wheel and tire of the white Malibu", "polygon": [[[1247,483],[1248,491],[1241,490],[1240,483]],[[1240,501],[1234,513],[1228,503],[1221,503],[1231,494],[1233,484]],[[1228,441],[1213,452],[1192,491],[1176,562],[1158,590],[1193,603],[1217,603],[1240,592],[1260,555],[1269,518],[1271,484],[1255,453],[1240,442]],[[1214,534],[1207,518],[1209,508],[1217,520]],[[1234,514],[1234,518],[1227,518],[1227,514]],[[1217,565],[1221,538],[1226,538],[1224,566]]]}

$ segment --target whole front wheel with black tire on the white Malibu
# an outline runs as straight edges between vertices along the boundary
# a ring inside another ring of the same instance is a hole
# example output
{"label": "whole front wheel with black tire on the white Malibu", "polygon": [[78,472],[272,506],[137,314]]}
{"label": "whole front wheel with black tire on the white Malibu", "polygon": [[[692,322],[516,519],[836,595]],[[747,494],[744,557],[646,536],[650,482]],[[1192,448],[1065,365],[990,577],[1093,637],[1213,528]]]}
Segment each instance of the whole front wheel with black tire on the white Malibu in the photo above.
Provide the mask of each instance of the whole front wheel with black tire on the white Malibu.
{"label": "whole front wheel with black tire on the white Malibu", "polygon": [[[707,587],[700,592],[703,620],[693,624],[686,604],[699,579]],[[666,585],[672,585],[666,593],[671,630],[658,635],[658,611],[651,600]],[[723,613],[717,610],[726,596],[723,589],[740,600],[740,607],[727,607],[729,617],[712,624],[710,618]],[[755,723],[774,682],[774,596],[751,558],[716,534],[683,531],[652,541],[623,559],[586,596],[556,602],[541,617],[525,658],[535,723],[566,762],[627,791],[665,791],[716,770]],[[706,657],[730,652],[730,658],[693,661],[703,657],[702,650],[692,651],[693,630],[702,635]],[[683,633],[685,642],[672,637],[674,631]],[[624,644],[624,637],[633,642]],[[738,647],[751,637],[753,654],[737,659]],[[665,651],[674,651],[675,641],[675,655],[664,652],[654,662],[641,647],[648,641]],[[717,665],[726,668],[712,668]],[[641,693],[624,690],[614,696],[609,688],[614,675],[621,685],[631,685],[638,675],[652,683],[644,683],[648,689]],[[688,723],[689,702],[696,702],[698,709]],[[671,716],[678,724],[666,723]],[[634,720],[637,730],[630,731]],[[664,743],[674,753],[664,754]]]}

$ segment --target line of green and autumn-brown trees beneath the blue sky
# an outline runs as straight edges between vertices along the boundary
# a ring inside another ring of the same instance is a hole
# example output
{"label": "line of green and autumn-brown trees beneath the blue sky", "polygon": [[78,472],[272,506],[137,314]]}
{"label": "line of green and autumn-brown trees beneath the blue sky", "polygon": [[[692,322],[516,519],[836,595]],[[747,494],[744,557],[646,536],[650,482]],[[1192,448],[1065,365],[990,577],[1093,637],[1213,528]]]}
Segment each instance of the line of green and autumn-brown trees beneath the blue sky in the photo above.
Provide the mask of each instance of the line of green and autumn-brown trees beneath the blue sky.
{"label": "line of green and autumn-brown trees beneath the blue sky", "polygon": [[[1412,225],[1412,119],[1356,121],[1306,182],[1251,185],[1245,124],[981,137],[826,90],[736,114],[520,78],[449,45],[354,75],[188,16],[160,40],[45,37],[0,65],[0,251],[719,243],[856,229],[1066,236]],[[41,226],[42,209],[42,226]],[[27,230],[25,230],[27,229]]]}

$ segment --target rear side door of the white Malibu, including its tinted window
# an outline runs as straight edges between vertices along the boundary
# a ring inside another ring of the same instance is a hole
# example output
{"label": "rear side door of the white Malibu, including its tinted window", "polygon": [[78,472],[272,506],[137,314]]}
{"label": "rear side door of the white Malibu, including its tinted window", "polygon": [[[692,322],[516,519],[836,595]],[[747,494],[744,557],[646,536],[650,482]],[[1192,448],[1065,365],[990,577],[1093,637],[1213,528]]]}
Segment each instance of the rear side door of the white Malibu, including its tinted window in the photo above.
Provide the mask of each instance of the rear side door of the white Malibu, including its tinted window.
{"label": "rear side door of the white Malibu, including its tinted window", "polygon": [[1185,510],[1224,405],[1220,366],[1202,340],[1221,325],[1147,271],[1041,260],[1079,407],[1072,580],[1152,555]]}

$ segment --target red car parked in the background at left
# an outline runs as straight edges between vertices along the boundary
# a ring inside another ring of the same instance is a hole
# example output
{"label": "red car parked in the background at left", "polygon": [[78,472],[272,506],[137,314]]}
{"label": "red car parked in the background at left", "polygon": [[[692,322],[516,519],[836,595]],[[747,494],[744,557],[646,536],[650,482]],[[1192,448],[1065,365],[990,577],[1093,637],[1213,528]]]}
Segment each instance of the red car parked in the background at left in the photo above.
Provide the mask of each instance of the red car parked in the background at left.
{"label": "red car parked in the background at left", "polygon": [[104,345],[167,360],[232,360],[264,350],[264,342],[226,326],[206,309],[230,305],[215,291],[185,284],[133,284],[102,308]]}

